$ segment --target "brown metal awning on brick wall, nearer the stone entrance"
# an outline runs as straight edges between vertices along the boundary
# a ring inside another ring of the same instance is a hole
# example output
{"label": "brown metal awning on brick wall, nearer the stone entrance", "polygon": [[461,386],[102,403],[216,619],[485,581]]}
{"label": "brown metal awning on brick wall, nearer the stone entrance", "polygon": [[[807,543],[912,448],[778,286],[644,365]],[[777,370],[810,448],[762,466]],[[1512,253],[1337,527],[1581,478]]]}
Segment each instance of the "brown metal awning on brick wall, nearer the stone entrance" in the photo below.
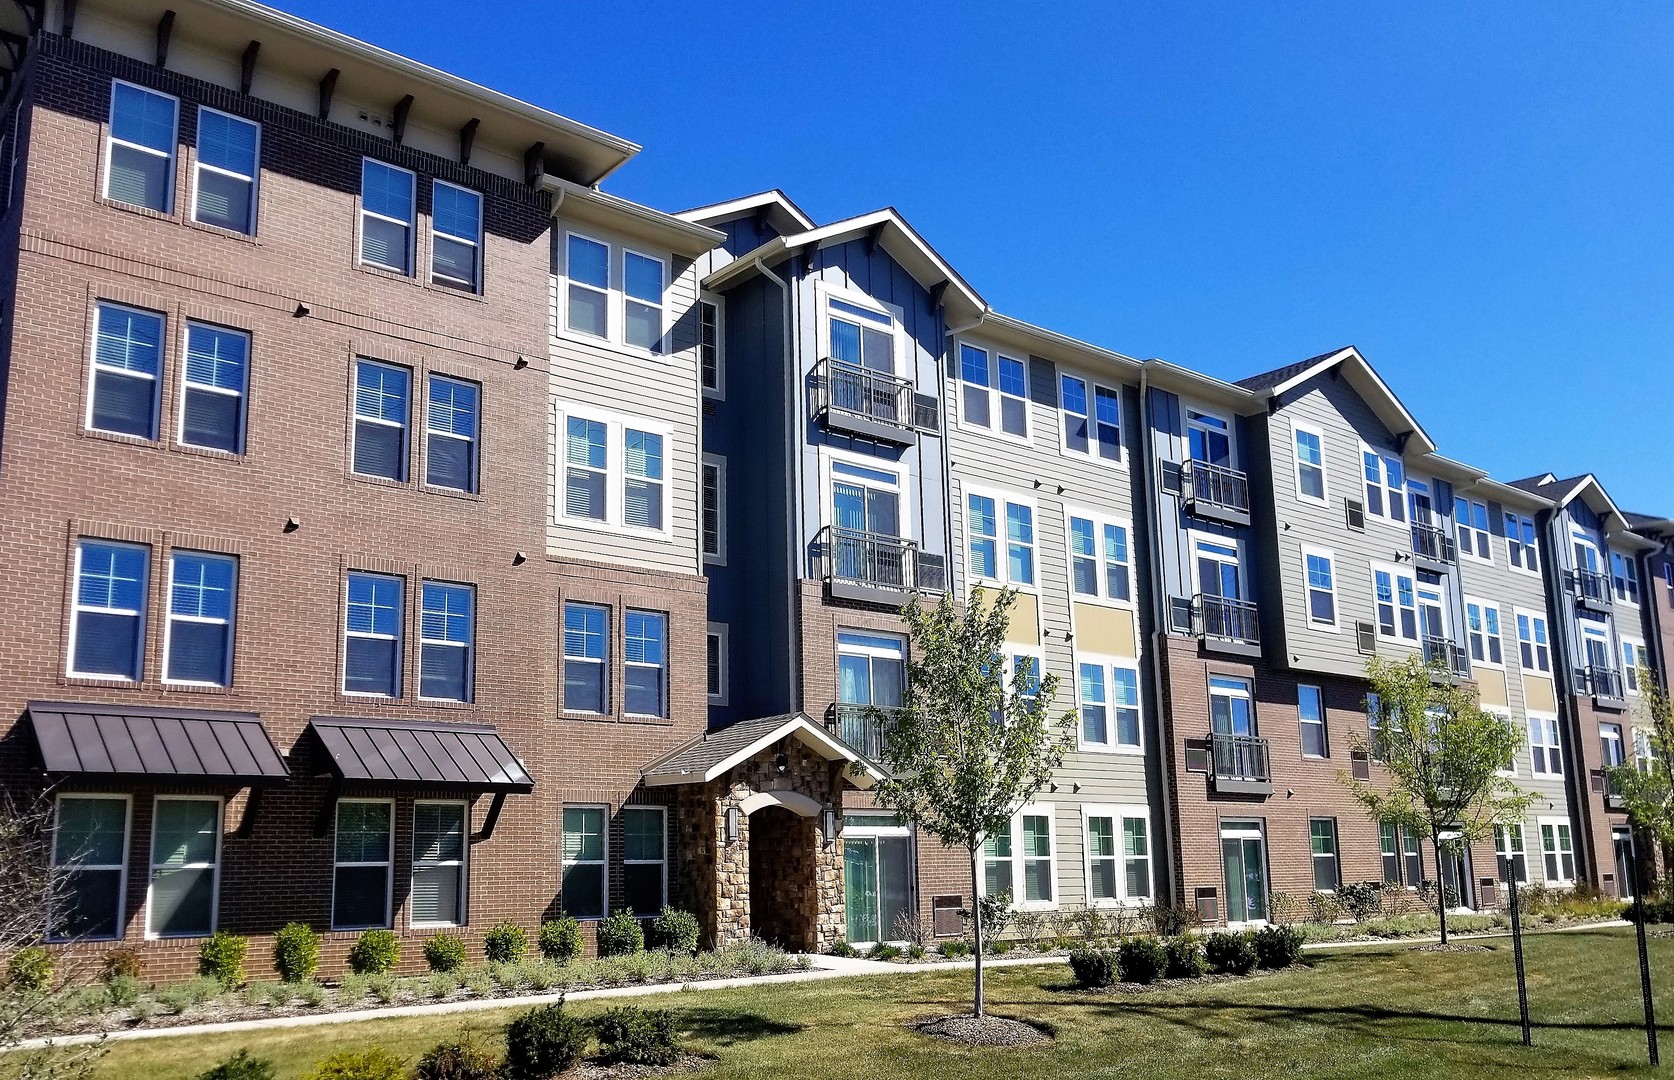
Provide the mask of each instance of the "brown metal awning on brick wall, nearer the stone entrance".
{"label": "brown metal awning on brick wall, nearer the stone entrance", "polygon": [[315,717],[310,727],[341,780],[519,794],[534,789],[529,770],[487,723]]}

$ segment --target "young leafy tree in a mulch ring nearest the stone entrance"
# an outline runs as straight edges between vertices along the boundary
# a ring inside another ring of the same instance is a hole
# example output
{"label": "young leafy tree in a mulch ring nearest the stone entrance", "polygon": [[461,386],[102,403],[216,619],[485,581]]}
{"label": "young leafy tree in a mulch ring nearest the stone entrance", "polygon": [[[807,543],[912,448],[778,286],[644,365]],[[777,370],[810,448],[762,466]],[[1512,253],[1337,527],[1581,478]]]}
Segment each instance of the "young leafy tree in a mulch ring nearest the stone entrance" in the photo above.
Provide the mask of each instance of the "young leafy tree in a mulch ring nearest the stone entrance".
{"label": "young leafy tree in a mulch ring nearest the stone entrance", "polygon": [[[961,611],[951,594],[934,608],[902,609],[912,661],[899,713],[870,710],[884,725],[889,779],[877,800],[921,831],[971,856],[971,896],[983,871],[983,842],[1011,827],[1011,815],[1063,764],[1075,713],[1051,720],[1058,680],[1035,670],[1011,673],[1001,648],[1014,589],[974,589]],[[973,904],[976,938],[974,1013],[983,1015],[983,909]]]}

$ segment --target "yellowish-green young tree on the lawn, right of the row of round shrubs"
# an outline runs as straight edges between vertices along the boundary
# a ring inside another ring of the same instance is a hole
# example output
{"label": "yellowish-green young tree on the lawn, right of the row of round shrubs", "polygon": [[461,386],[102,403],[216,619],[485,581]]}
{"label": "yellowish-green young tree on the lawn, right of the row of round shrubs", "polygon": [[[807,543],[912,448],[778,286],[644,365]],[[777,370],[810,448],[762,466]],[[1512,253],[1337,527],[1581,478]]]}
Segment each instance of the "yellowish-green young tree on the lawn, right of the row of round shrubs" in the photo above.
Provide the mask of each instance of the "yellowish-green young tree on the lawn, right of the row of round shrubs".
{"label": "yellowish-green young tree on the lawn, right of the row of round shrubs", "polygon": [[[1443,851],[1468,849],[1495,825],[1523,820],[1533,795],[1503,774],[1518,737],[1481,710],[1475,690],[1455,685],[1446,668],[1426,666],[1418,656],[1401,663],[1373,656],[1366,678],[1379,715],[1374,745],[1361,748],[1384,764],[1388,784],[1341,779],[1373,820],[1428,834],[1438,871]],[[1445,897],[1436,909],[1446,944]]]}

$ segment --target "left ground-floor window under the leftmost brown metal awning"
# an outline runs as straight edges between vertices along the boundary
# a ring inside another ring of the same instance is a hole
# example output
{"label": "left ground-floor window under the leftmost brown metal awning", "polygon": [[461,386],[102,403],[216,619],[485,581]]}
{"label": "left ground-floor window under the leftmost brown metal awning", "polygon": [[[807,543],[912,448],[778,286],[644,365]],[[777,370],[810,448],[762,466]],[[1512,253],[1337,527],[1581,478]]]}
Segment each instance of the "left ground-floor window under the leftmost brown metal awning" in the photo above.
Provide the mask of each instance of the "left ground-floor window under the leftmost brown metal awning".
{"label": "left ground-floor window under the leftmost brown metal awning", "polygon": [[47,928],[55,941],[122,936],[127,886],[127,795],[59,795],[52,866],[64,874],[64,904]]}

